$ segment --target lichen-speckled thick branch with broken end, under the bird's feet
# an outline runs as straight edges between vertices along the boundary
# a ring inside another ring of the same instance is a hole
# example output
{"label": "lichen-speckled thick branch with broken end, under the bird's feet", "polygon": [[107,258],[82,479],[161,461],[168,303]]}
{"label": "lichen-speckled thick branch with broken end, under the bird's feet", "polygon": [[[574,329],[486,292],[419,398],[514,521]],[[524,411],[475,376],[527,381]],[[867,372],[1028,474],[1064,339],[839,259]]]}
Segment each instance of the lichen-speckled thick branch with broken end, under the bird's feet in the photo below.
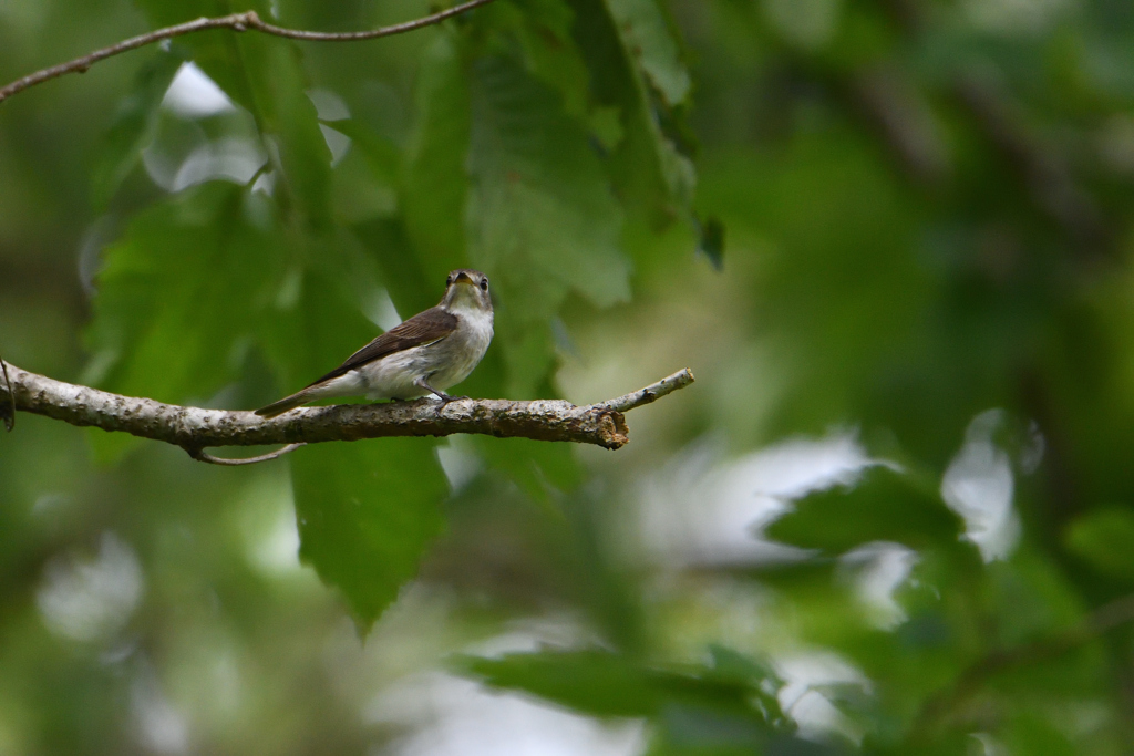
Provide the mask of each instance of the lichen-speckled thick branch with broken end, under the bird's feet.
{"label": "lichen-speckled thick branch with broken end, under the bird's feet", "polygon": [[304,444],[386,436],[445,436],[454,433],[574,441],[618,449],[629,441],[623,413],[693,383],[693,373],[684,369],[640,391],[582,407],[561,399],[457,399],[446,405],[432,399],[418,399],[376,405],[303,407],[264,419],[245,410],[179,407],[153,399],[124,397],[56,381],[10,364],[8,374],[11,391],[0,387],[0,401],[14,401],[16,409],[71,425],[90,425],[164,441],[181,447],[194,459],[218,465],[264,461],[290,449],[251,460],[230,460],[205,455],[205,448]]}

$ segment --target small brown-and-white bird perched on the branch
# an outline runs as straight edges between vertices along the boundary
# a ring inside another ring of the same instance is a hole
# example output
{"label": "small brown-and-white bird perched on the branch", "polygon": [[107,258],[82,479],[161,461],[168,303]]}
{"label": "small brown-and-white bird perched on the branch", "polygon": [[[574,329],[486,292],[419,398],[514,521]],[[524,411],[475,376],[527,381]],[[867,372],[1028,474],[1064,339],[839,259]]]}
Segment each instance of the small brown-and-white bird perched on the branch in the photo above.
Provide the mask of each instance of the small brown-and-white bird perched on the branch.
{"label": "small brown-and-white bird perched on the branch", "polygon": [[276,417],[328,397],[405,400],[432,393],[446,404],[465,399],[445,390],[468,377],[491,341],[489,278],[469,267],[455,270],[437,307],[393,326],[323,377],[261,407],[256,415]]}

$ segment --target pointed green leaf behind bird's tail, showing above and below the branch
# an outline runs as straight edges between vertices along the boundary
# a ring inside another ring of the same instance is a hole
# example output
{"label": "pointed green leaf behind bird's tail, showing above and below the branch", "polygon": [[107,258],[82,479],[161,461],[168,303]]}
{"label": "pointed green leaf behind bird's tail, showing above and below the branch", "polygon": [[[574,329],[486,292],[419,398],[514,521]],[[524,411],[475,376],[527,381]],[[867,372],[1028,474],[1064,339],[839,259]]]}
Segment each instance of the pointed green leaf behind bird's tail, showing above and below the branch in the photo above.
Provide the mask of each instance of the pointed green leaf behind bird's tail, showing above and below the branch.
{"label": "pointed green leaf behind bird's tail, showing above and below the branch", "polygon": [[[295,301],[262,334],[281,391],[330,371],[379,332],[346,282],[307,272],[297,287]],[[362,630],[416,575],[443,526],[448,483],[434,445],[431,439],[336,442],[290,458],[299,555],[342,592]]]}

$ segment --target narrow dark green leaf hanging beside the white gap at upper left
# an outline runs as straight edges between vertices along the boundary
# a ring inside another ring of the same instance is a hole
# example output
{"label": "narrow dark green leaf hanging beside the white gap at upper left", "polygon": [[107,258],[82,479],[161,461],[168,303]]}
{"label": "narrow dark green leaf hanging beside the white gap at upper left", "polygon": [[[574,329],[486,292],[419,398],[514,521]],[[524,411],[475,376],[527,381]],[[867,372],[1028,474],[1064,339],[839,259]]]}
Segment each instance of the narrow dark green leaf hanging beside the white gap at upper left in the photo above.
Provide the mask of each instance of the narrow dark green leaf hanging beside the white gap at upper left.
{"label": "narrow dark green leaf hanging beside the white gap at upper left", "polygon": [[172,52],[158,52],[138,71],[134,88],[118,105],[102,150],[91,170],[91,202],[104,209],[118,187],[142,160],[142,150],[153,139],[166,90],[184,60]]}

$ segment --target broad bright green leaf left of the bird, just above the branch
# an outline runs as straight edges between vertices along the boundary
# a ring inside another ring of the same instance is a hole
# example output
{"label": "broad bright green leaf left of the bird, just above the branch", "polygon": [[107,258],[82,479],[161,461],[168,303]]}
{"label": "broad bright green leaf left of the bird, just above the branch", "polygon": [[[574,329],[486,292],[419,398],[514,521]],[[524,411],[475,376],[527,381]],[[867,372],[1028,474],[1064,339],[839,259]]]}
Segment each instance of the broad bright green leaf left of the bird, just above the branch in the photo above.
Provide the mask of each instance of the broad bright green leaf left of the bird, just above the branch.
{"label": "broad bright green leaf left of the bird, just above the branch", "polygon": [[[270,215],[263,196],[220,181],[138,214],[96,278],[87,380],[180,402],[236,377],[281,277]],[[109,456],[121,449],[100,447]]]}

